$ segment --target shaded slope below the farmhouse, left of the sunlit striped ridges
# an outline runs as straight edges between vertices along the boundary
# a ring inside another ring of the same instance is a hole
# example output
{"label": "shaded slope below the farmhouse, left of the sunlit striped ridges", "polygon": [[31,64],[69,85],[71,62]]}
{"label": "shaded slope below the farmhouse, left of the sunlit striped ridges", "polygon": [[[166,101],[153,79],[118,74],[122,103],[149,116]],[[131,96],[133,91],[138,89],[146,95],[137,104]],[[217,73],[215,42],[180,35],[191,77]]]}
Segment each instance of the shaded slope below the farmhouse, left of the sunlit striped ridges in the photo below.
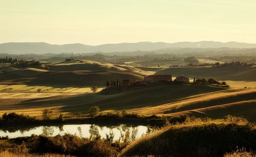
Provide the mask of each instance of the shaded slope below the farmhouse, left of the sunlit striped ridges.
{"label": "shaded slope below the farmhouse, left of the sunlit striped ridges", "polygon": [[[115,95],[78,94],[70,96],[63,93],[58,96],[51,97],[48,95],[47,98],[35,99],[31,97],[26,98],[26,95],[24,95],[24,98],[19,96],[19,98],[16,99],[15,93],[13,93],[13,98],[0,97],[0,115],[5,112],[15,111],[17,113],[40,117],[41,111],[44,108],[53,108],[56,113],[77,115],[78,111],[82,111],[84,114],[87,113],[89,108],[95,105],[98,106],[101,111],[128,109],[134,113],[150,115],[152,112],[147,112],[147,108],[175,102],[184,97],[196,94],[223,90],[225,89],[205,85],[181,85],[178,87],[178,85],[160,83],[159,85],[135,88],[131,91]],[[184,91],[187,92],[184,93]],[[0,93],[0,95],[1,94],[6,95],[5,93]],[[11,95],[11,93],[9,93],[9,95]],[[35,93],[35,95],[38,95],[38,93]]]}

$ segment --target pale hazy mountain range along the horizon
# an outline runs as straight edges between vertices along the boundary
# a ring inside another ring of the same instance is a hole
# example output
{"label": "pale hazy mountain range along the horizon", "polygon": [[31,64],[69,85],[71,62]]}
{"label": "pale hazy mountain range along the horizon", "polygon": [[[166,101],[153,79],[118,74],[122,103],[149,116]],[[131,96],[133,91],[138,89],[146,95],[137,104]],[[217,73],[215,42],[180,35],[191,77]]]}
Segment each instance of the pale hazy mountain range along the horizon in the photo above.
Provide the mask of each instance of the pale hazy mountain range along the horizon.
{"label": "pale hazy mountain range along the horizon", "polygon": [[0,44],[0,53],[8,54],[45,54],[45,53],[93,53],[93,52],[130,52],[130,51],[153,51],[173,48],[256,48],[256,43],[243,42],[136,42],[136,43],[113,43],[99,46],[89,46],[81,43],[49,44],[46,42],[8,42]]}

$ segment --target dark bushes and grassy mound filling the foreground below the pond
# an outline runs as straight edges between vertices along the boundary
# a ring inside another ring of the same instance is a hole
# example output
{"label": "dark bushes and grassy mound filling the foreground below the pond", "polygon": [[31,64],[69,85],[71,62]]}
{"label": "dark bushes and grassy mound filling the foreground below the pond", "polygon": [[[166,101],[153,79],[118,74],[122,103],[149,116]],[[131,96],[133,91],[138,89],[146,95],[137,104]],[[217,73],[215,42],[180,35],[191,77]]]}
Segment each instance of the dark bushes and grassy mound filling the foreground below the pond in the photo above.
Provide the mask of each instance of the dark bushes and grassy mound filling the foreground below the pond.
{"label": "dark bushes and grassy mound filling the foreground below the pond", "polygon": [[[256,129],[246,119],[186,118],[183,123],[167,122],[161,129],[148,128],[136,140],[136,130],[126,131],[114,141],[114,133],[101,138],[91,131],[90,138],[65,134],[44,135],[0,141],[1,156],[252,156],[256,150]],[[239,149],[239,151],[237,150]],[[247,152],[248,151],[248,152]],[[61,156],[61,155],[59,155]]]}

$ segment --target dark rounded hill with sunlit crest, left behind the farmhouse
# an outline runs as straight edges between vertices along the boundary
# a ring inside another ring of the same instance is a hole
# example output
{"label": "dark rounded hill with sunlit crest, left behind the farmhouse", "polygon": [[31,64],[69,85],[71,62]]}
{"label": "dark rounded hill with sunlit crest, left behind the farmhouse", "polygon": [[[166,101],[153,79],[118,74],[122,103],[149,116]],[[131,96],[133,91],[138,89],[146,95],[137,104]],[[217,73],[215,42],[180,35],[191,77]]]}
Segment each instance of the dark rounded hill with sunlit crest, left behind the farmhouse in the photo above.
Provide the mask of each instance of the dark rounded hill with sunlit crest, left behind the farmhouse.
{"label": "dark rounded hill with sunlit crest, left behind the farmhouse", "polygon": [[88,60],[46,64],[48,70],[21,68],[10,65],[0,75],[1,84],[65,84],[105,85],[105,82],[122,79],[139,79],[145,72],[130,66],[113,65]]}

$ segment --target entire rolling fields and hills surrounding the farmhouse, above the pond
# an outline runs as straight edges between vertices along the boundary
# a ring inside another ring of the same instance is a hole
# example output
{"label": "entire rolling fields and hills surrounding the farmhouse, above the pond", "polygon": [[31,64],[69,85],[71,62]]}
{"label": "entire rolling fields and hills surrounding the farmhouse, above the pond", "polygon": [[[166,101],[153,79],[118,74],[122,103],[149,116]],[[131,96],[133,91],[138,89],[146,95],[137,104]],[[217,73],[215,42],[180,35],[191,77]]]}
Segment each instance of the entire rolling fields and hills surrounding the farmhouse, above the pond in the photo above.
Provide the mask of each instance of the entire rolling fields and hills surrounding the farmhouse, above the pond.
{"label": "entire rolling fields and hills surrounding the farmhouse, above the pond", "polygon": [[[42,110],[48,108],[54,111],[56,117],[60,113],[76,116],[78,111],[87,114],[90,107],[98,106],[103,113],[126,109],[129,113],[167,117],[187,115],[220,118],[230,114],[256,121],[256,66],[163,69],[87,60],[47,66],[48,70],[9,67],[6,73],[0,75],[0,115],[16,112],[40,118]],[[232,88],[158,83],[114,95],[92,94],[90,89],[98,85],[99,92],[106,80],[142,80],[144,75],[155,72],[172,74],[173,79],[182,74],[190,78],[217,78],[226,81]],[[40,93],[38,89],[41,89]]]}

